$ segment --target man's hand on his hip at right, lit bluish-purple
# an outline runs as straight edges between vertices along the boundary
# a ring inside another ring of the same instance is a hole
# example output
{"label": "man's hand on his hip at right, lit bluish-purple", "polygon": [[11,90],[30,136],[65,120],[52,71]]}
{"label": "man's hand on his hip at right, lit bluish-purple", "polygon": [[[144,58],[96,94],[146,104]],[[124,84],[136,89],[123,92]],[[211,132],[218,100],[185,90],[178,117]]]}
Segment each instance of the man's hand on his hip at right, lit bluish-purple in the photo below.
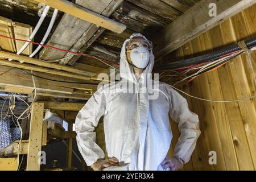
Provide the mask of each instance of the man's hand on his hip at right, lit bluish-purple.
{"label": "man's hand on his hip at right, lit bluish-purple", "polygon": [[176,157],[167,157],[161,163],[163,169],[170,168],[171,171],[177,171],[178,169],[183,168],[183,162],[181,159],[177,159]]}

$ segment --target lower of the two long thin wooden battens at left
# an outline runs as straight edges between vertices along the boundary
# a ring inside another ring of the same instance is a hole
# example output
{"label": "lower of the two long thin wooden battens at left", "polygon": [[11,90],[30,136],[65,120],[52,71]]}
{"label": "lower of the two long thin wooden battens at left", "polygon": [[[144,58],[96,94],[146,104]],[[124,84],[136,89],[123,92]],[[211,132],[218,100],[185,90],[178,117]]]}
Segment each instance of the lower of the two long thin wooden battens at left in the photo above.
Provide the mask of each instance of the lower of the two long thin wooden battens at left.
{"label": "lower of the two long thin wooden battens at left", "polygon": [[7,66],[7,67],[27,69],[27,70],[43,72],[43,73],[49,73],[49,74],[52,74],[52,75],[60,75],[60,76],[66,76],[66,77],[70,77],[70,78],[77,78],[77,79],[80,79],[80,80],[90,80],[90,77],[86,77],[86,76],[82,76],[82,75],[76,75],[74,73],[59,71],[59,70],[50,69],[50,68],[36,67],[34,65],[31,65],[31,64],[16,63],[15,61],[8,61],[8,60],[0,59],[0,65],[4,65],[4,66]]}

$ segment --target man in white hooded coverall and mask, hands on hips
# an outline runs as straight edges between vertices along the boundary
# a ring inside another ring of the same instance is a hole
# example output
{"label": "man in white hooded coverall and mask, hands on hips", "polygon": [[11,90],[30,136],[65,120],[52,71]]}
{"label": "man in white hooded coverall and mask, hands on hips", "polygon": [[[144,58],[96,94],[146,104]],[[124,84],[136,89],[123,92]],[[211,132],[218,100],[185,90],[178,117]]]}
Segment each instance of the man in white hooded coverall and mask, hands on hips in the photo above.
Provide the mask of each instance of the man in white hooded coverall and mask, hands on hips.
{"label": "man in white hooded coverall and mask, hands on hips", "polygon": [[[150,99],[144,83],[151,79],[153,66],[151,42],[141,34],[131,35],[121,51],[122,80],[98,89],[77,114],[77,144],[94,170],[177,170],[191,158],[200,135],[199,118],[185,98],[162,82],[152,81],[158,85],[158,97]],[[122,87],[125,83],[129,86]],[[130,92],[134,87],[137,92]],[[169,113],[180,131],[174,157],[167,157]],[[102,115],[108,159],[95,142],[94,128]]]}

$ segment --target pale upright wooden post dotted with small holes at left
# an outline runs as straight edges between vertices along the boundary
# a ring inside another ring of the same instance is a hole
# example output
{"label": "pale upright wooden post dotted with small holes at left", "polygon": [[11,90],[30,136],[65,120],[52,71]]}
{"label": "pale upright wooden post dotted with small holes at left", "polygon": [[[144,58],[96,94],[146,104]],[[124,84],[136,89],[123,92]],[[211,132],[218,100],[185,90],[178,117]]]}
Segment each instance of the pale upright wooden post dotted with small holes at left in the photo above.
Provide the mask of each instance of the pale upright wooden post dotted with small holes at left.
{"label": "pale upright wooden post dotted with small holes at left", "polygon": [[31,108],[30,138],[28,140],[27,171],[39,171],[39,152],[42,147],[44,104],[35,102]]}

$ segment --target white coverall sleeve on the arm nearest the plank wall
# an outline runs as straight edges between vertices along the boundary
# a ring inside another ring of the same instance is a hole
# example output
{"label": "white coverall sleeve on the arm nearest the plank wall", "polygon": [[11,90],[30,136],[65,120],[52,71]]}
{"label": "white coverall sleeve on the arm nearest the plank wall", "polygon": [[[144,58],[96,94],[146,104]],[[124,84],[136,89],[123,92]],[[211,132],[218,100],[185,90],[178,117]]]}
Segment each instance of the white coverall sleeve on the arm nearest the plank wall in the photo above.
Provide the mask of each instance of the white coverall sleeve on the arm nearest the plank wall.
{"label": "white coverall sleeve on the arm nearest the plank wall", "polygon": [[172,119],[178,123],[180,131],[180,137],[174,148],[174,156],[182,159],[184,163],[187,163],[196,147],[196,140],[201,134],[199,117],[189,110],[188,102],[184,97],[174,89],[170,91],[170,113]]}

